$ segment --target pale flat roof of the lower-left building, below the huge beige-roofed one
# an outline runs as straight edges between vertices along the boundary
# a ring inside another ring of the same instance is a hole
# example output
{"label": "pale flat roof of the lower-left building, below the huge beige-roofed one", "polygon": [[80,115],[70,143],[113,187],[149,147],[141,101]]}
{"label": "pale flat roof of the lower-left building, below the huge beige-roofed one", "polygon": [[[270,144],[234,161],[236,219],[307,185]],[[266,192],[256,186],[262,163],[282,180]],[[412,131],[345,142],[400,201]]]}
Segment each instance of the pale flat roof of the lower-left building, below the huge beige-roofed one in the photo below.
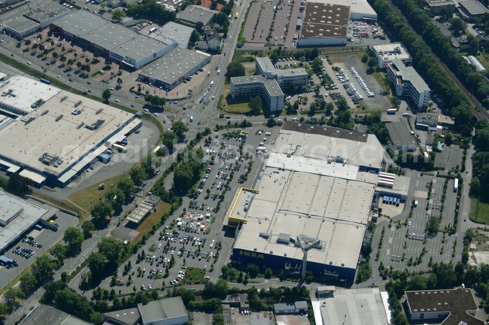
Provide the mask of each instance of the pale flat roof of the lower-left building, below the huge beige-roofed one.
{"label": "pale flat roof of the lower-left building, below the huge beige-roofed one", "polygon": [[0,249],[10,244],[23,231],[36,223],[47,211],[37,204],[25,201],[10,193],[0,191],[0,207],[4,207],[9,203],[17,203],[22,205],[24,210],[19,216],[8,223],[6,226],[0,227]]}

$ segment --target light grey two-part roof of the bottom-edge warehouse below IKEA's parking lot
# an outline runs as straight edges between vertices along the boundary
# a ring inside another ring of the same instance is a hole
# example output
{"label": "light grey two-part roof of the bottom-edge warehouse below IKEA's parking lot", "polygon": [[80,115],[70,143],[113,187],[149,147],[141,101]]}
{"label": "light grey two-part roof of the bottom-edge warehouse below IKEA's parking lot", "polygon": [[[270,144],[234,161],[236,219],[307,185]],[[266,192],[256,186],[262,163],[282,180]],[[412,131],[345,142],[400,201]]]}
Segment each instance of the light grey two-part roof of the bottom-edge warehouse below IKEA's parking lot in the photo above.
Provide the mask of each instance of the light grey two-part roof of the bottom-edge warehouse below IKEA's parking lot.
{"label": "light grey two-part roof of the bottom-edge warehouse below IKEA's parking lot", "polygon": [[146,305],[137,304],[137,309],[139,309],[141,320],[145,323],[188,315],[179,296],[152,301]]}

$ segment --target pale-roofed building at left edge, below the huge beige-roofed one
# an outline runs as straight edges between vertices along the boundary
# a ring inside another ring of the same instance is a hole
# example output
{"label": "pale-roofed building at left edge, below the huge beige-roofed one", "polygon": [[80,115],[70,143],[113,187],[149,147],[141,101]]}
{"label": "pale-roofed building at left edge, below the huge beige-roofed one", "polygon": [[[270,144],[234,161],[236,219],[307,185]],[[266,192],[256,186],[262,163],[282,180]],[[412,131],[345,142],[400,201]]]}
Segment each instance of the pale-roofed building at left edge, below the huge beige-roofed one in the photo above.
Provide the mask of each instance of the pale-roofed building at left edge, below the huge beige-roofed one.
{"label": "pale-roofed building at left edge, below the huge beige-roofed one", "polygon": [[0,191],[0,255],[28,232],[41,218],[52,213],[35,203]]}

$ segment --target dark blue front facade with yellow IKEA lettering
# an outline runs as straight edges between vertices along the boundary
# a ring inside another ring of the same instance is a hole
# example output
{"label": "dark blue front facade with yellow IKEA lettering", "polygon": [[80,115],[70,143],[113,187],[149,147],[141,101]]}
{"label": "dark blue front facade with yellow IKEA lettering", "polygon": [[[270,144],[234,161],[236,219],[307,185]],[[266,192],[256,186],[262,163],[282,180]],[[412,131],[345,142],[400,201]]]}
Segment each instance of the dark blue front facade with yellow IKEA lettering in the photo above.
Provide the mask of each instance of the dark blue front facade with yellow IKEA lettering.
{"label": "dark blue front facade with yellow IKEA lettering", "polygon": [[[233,261],[241,263],[253,263],[257,265],[266,265],[271,268],[283,269],[286,263],[302,265],[302,259],[292,259],[285,256],[277,256],[262,252],[254,252],[241,248],[233,248]],[[306,269],[315,275],[323,276],[325,269],[329,272],[338,274],[338,279],[355,281],[356,268],[328,265],[316,262],[307,262]]]}

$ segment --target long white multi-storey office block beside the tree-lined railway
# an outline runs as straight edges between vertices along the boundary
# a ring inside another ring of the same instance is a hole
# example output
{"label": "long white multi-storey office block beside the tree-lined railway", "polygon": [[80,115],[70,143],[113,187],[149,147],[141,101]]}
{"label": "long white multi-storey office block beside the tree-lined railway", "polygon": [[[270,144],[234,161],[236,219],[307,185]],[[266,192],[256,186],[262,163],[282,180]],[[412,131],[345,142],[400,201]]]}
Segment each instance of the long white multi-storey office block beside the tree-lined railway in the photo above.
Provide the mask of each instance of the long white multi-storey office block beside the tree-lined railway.
{"label": "long white multi-storey office block beside the tree-lined railway", "polygon": [[412,66],[406,67],[400,59],[394,59],[387,65],[387,75],[398,96],[411,98],[418,108],[428,106],[430,89]]}

